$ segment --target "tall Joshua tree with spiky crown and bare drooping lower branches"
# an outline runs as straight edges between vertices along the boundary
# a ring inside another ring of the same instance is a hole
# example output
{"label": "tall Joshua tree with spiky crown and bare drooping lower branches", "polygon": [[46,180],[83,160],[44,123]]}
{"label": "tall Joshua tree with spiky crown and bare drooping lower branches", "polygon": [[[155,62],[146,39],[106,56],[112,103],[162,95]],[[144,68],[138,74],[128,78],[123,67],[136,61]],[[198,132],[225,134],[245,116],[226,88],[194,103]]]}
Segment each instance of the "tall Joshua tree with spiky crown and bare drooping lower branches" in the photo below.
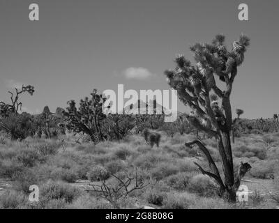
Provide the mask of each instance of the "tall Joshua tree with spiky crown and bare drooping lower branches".
{"label": "tall Joshua tree with spiky crown and bare drooping lower branches", "polygon": [[[199,164],[195,164],[202,174],[216,180],[223,197],[228,201],[236,201],[236,190],[243,173],[234,177],[229,135],[232,130],[230,95],[237,67],[243,63],[244,53],[250,39],[241,34],[239,40],[232,44],[230,51],[225,47],[224,42],[225,36],[218,34],[211,44],[192,45],[190,50],[194,54],[196,64],[193,66],[190,61],[179,54],[174,60],[176,67],[165,71],[165,75],[169,86],[177,90],[179,99],[192,109],[192,114],[188,115],[188,121],[198,130],[216,139],[225,177],[221,178],[208,149],[199,140],[186,142],[185,145],[197,145],[206,155],[211,171],[206,171]],[[225,83],[224,91],[217,86],[216,77]]]}

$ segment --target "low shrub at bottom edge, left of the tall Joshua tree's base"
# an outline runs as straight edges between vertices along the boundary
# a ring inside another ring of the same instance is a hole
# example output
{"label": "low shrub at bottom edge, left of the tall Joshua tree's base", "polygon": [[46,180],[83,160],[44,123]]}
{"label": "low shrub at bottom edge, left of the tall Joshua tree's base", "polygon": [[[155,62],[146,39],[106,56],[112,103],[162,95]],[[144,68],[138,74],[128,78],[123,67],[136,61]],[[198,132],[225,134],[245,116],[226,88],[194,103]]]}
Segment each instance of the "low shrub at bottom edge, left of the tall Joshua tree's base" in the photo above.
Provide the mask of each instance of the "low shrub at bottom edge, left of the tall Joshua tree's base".
{"label": "low shrub at bottom edge, left of the tall Joshua tree's base", "polygon": [[163,201],[164,209],[189,209],[190,206],[195,204],[197,197],[194,194],[189,194],[184,192],[179,193],[169,193],[166,199]]}

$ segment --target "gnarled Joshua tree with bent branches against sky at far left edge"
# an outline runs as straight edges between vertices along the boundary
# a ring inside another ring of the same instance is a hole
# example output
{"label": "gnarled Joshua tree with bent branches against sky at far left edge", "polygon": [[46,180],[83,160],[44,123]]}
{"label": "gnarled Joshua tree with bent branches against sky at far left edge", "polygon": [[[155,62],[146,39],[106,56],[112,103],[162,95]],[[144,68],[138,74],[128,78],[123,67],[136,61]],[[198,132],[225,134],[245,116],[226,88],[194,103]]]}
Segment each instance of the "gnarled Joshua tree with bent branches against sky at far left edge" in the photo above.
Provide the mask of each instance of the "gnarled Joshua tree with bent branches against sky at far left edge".
{"label": "gnarled Joshua tree with bent branches against sky at far left edge", "polygon": [[33,95],[34,91],[34,87],[31,85],[22,85],[22,89],[15,88],[15,94],[8,91],[10,93],[11,104],[0,102],[0,116],[8,116],[10,113],[17,114],[18,110],[22,108],[22,102],[18,101],[20,94],[28,92],[30,95]]}

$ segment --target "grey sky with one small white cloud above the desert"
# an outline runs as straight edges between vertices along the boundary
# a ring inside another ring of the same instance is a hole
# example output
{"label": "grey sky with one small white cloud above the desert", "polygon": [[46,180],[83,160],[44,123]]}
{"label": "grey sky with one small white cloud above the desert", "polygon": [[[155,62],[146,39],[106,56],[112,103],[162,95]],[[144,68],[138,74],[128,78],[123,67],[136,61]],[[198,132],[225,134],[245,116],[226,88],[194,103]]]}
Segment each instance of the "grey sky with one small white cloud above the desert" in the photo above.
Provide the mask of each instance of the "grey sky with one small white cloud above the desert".
{"label": "grey sky with one small white cloud above the desert", "polygon": [[[37,3],[40,20],[29,20]],[[248,21],[238,19],[240,3]],[[117,89],[169,89],[165,70],[176,54],[193,60],[189,45],[218,33],[231,43],[251,39],[232,90],[232,109],[245,118],[279,113],[279,1],[223,0],[0,0],[0,101],[14,86],[31,84],[22,109],[52,112],[68,100]],[[187,108],[179,102],[179,111]]]}

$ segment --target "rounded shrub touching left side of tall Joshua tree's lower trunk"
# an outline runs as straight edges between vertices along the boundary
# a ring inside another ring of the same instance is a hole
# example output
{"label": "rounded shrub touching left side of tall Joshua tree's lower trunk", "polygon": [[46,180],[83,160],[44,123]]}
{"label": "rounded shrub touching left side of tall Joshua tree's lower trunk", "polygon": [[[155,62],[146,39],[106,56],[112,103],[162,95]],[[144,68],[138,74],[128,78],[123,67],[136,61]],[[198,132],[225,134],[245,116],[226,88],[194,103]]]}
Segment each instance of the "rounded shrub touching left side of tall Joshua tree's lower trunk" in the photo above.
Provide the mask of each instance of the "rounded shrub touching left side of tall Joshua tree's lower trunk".
{"label": "rounded shrub touching left side of tall Joshua tree's lower trunk", "polygon": [[198,174],[190,180],[188,190],[202,197],[214,197],[218,194],[216,185],[209,177],[202,174]]}

